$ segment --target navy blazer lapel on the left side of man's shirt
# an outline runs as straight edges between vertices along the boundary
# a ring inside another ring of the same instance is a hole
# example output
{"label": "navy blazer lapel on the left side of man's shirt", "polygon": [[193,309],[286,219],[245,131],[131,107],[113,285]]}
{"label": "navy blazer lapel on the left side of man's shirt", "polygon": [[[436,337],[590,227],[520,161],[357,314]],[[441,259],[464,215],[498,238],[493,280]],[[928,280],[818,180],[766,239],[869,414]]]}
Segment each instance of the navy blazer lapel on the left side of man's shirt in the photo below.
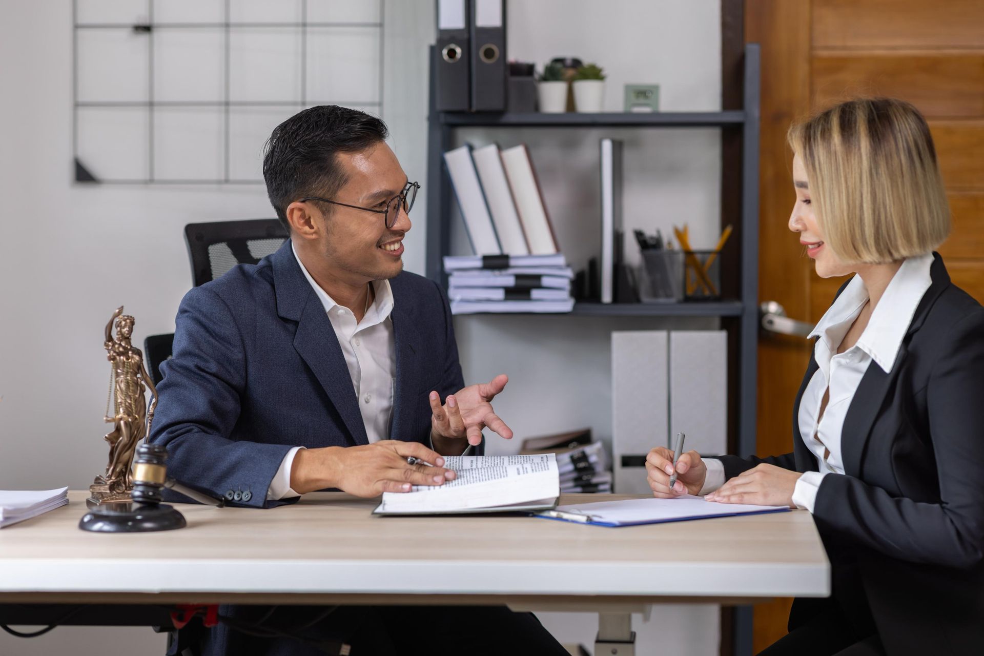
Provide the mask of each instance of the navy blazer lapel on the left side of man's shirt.
{"label": "navy blazer lapel on the left side of man's shirt", "polygon": [[297,322],[294,349],[332,400],[352,441],[359,445],[369,444],[335,328],[332,328],[332,322],[325,314],[325,306],[297,264],[290,240],[271,256],[271,262],[274,267],[277,314],[283,319]]}

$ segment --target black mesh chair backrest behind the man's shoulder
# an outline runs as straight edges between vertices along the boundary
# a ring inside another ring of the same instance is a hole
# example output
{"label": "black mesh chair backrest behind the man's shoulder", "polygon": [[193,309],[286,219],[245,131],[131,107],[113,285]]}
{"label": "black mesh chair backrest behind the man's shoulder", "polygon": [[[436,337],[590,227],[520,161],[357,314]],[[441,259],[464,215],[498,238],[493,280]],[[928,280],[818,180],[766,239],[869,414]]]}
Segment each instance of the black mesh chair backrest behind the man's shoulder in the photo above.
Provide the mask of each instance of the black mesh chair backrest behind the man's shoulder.
{"label": "black mesh chair backrest behind the man's shoulder", "polygon": [[276,218],[189,223],[185,242],[195,286],[215,280],[236,265],[255,265],[287,239]]}

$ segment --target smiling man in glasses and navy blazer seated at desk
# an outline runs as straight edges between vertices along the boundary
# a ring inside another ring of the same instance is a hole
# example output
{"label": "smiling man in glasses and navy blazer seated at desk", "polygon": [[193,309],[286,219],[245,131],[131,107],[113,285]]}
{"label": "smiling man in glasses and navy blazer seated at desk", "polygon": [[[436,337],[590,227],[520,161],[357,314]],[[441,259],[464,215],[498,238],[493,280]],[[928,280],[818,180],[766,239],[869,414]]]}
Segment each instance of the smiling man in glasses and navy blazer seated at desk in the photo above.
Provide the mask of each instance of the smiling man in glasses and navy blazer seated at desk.
{"label": "smiling man in glasses and navy blazer seated at desk", "polygon": [[[152,440],[178,480],[249,507],[326,488],[375,497],[454,479],[442,455],[480,444],[484,427],[513,437],[490,404],[507,377],[463,387],[447,300],[402,271],[419,186],[386,138],[378,118],[338,106],[274,130],[264,178],[290,239],[192,289],[162,366]],[[232,619],[207,653],[322,653],[298,636],[370,654],[567,653],[505,608],[260,610],[222,609]]]}

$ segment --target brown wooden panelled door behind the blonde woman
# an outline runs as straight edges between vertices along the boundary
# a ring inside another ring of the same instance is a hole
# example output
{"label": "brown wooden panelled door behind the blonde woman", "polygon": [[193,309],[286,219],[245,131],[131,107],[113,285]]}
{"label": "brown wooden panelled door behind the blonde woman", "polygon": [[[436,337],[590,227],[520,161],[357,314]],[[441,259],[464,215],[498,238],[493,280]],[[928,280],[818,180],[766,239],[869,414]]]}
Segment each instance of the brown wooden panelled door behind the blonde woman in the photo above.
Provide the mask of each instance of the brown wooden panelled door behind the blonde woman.
{"label": "brown wooden panelled door behind the blonde woman", "polygon": [[[940,251],[953,282],[984,302],[984,2],[747,0],[745,37],[762,44],[760,299],[816,322],[843,282],[818,277],[786,228],[790,122],[850,97],[891,95],[930,123],[953,211]],[[792,449],[809,355],[802,339],[760,340],[759,454]],[[756,606],[756,652],[785,633],[790,601]]]}

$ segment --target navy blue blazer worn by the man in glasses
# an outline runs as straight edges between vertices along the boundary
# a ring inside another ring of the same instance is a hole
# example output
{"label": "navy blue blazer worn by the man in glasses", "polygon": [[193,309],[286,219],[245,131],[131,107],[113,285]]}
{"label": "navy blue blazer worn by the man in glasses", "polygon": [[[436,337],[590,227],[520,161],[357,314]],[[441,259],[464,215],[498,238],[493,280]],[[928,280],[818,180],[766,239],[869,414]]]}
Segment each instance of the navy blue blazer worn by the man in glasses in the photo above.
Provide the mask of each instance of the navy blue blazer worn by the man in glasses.
{"label": "navy blue blazer worn by the man in glasses", "polygon": [[[427,444],[428,393],[464,385],[451,310],[432,280],[404,271],[390,284],[390,439]],[[160,369],[151,441],[167,448],[168,474],[234,504],[276,506],[267,490],[291,447],[368,444],[335,329],[289,240],[189,291]]]}

